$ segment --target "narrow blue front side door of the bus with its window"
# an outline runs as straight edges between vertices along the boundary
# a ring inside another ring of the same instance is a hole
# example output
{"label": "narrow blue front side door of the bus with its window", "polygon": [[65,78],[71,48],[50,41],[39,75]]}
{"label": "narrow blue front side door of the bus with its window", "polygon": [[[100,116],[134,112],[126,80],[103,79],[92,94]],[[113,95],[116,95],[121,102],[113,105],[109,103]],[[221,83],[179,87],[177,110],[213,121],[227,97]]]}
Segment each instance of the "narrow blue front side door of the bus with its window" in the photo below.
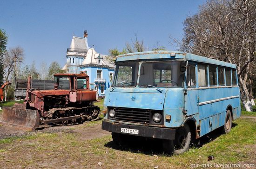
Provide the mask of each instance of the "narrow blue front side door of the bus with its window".
{"label": "narrow blue front side door of the bus with its window", "polygon": [[186,87],[185,87],[185,111],[186,115],[198,113],[198,87],[196,84],[197,67],[195,63],[187,63]]}

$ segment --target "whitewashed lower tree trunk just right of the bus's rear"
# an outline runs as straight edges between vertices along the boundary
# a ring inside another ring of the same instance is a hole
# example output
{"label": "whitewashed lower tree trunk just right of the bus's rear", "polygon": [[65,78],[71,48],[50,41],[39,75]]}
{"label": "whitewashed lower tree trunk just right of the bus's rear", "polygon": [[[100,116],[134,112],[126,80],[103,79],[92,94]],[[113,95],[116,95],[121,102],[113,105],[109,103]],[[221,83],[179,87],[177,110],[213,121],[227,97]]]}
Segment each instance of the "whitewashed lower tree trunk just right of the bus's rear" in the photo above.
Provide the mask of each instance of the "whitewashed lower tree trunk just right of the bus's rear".
{"label": "whitewashed lower tree trunk just right of the bus's rear", "polygon": [[251,103],[249,91],[246,87],[246,83],[243,81],[241,76],[239,77],[239,81],[241,84],[240,93],[241,93],[241,100],[242,100],[243,106],[247,112],[252,112],[252,103]]}

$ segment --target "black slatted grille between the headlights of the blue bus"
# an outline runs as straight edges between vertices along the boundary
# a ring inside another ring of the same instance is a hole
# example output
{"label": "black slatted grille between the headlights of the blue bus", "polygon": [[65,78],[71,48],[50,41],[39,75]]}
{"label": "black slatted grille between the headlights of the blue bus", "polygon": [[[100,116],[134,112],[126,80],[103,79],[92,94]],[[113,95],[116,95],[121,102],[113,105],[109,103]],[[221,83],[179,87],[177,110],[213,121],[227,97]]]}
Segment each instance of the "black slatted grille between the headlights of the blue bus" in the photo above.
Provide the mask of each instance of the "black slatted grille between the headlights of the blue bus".
{"label": "black slatted grille between the headlights of the blue bus", "polygon": [[116,107],[115,119],[120,121],[149,124],[149,113],[150,110],[147,109]]}

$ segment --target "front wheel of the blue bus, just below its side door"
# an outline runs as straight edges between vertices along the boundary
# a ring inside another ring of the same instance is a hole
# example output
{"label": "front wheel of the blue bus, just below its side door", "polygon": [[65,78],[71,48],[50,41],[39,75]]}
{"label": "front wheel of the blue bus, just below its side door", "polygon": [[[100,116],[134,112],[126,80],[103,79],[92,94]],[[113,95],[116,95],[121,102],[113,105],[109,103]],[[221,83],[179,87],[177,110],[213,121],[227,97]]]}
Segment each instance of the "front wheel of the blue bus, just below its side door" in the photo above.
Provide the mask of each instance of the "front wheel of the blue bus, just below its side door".
{"label": "front wheel of the blue bus, just below its side door", "polygon": [[183,127],[176,129],[174,140],[174,154],[181,154],[189,149],[191,143],[191,132],[189,125],[185,124]]}

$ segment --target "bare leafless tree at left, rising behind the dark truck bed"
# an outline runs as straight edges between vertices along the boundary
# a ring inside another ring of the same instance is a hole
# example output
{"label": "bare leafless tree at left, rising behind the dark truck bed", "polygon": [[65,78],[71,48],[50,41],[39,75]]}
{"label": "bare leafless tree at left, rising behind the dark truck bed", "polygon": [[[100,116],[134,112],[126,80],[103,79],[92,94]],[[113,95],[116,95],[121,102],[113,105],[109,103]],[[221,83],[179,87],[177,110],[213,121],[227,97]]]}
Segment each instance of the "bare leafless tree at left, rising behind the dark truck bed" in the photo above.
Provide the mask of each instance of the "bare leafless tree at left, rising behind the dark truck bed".
{"label": "bare leafless tree at left, rising behind the dark truck bed", "polygon": [[[20,47],[11,48],[4,54],[3,59],[4,59],[5,81],[9,81],[10,75],[15,69],[15,64],[18,61],[22,61],[24,59],[24,50]],[[9,90],[9,86],[4,90],[5,96],[7,96],[8,90]],[[7,101],[7,97],[5,97],[5,101]]]}

